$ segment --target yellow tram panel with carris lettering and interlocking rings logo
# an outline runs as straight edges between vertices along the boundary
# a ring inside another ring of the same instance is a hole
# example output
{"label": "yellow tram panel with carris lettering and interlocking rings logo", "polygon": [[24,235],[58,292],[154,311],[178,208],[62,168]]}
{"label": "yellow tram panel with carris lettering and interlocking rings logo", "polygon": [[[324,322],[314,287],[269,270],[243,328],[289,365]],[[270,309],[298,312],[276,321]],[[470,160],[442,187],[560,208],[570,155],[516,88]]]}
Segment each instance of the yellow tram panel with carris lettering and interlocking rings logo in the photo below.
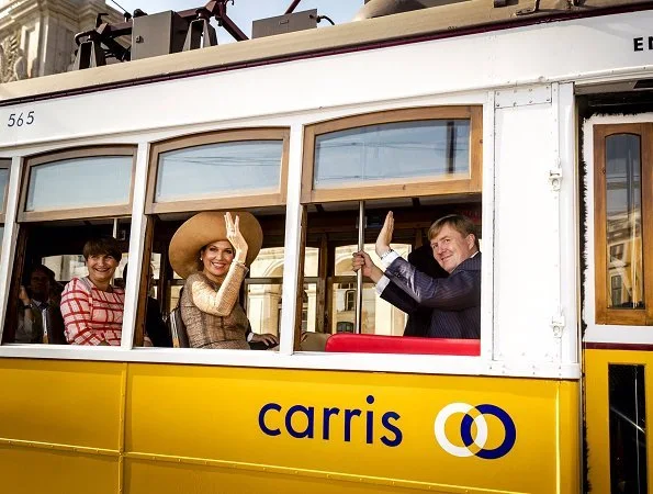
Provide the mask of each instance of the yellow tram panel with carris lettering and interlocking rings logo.
{"label": "yellow tram panel with carris lettering and interlocking rings logo", "polygon": [[[577,396],[566,381],[131,364],[125,447],[470,492],[577,493]],[[476,422],[466,430],[482,446],[465,447],[463,412],[449,414],[436,438],[436,417],[450,405],[469,406]],[[507,437],[481,405],[514,423],[505,454],[480,454]]]}

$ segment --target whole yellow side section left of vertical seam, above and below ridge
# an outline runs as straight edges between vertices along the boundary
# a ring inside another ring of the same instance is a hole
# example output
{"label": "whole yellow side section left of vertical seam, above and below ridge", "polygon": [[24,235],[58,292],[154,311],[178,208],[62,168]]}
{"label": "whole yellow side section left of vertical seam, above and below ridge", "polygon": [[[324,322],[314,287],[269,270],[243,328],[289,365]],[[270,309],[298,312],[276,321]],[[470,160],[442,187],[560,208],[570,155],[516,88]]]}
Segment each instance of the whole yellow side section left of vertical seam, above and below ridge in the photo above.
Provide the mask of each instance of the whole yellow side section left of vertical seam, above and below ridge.
{"label": "whole yellow side section left of vertical seam, above and below ridge", "polygon": [[124,363],[0,359],[2,492],[119,492],[125,371]]}

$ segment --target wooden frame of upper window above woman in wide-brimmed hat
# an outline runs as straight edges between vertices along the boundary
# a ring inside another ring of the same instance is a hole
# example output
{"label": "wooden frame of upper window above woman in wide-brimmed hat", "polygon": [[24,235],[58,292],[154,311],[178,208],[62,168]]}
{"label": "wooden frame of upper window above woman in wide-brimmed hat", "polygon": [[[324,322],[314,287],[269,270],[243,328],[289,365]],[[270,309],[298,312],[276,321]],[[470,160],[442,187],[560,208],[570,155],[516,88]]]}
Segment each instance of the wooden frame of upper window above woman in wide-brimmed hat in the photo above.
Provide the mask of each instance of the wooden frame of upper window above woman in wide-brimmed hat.
{"label": "wooden frame of upper window above woman in wide-brimmed hat", "polygon": [[[281,175],[279,188],[275,192],[247,193],[239,191],[233,195],[221,195],[214,199],[193,199],[183,201],[155,202],[156,181],[159,167],[159,156],[171,150],[211,144],[233,143],[243,141],[282,141]],[[230,210],[236,207],[251,207],[256,203],[259,207],[284,205],[288,188],[288,159],[290,150],[289,127],[257,127],[229,131],[206,132],[182,137],[160,141],[151,145],[149,154],[149,171],[147,194],[145,201],[146,214],[164,214],[178,212],[195,212],[212,210]]]}

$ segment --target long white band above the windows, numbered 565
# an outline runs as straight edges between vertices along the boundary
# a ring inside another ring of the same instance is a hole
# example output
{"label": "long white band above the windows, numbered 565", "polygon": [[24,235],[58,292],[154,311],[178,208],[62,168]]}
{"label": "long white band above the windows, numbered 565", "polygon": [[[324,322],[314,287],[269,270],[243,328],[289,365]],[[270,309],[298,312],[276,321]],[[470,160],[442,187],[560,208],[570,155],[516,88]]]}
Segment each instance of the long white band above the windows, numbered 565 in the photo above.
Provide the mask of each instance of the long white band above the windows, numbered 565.
{"label": "long white band above the windows, numbered 565", "polygon": [[[326,56],[0,108],[0,148],[523,83],[653,77],[634,12]],[[573,49],[571,49],[573,47]],[[32,125],[7,127],[34,111]]]}

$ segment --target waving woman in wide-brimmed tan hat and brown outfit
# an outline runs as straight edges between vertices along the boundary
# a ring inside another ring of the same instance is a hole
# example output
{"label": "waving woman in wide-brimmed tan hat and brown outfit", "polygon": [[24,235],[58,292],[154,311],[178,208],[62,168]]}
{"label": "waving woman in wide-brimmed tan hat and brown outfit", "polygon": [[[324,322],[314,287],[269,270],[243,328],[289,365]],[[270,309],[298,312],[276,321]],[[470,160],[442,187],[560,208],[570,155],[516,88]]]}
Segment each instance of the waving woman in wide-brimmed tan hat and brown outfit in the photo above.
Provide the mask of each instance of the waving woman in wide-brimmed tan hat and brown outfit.
{"label": "waving woman in wide-brimmed tan hat and brown outfit", "polygon": [[170,265],[185,278],[181,318],[192,348],[250,349],[249,341],[278,344],[274,335],[249,332],[238,303],[240,285],[263,242],[248,212],[203,212],[188,220],[170,242]]}

